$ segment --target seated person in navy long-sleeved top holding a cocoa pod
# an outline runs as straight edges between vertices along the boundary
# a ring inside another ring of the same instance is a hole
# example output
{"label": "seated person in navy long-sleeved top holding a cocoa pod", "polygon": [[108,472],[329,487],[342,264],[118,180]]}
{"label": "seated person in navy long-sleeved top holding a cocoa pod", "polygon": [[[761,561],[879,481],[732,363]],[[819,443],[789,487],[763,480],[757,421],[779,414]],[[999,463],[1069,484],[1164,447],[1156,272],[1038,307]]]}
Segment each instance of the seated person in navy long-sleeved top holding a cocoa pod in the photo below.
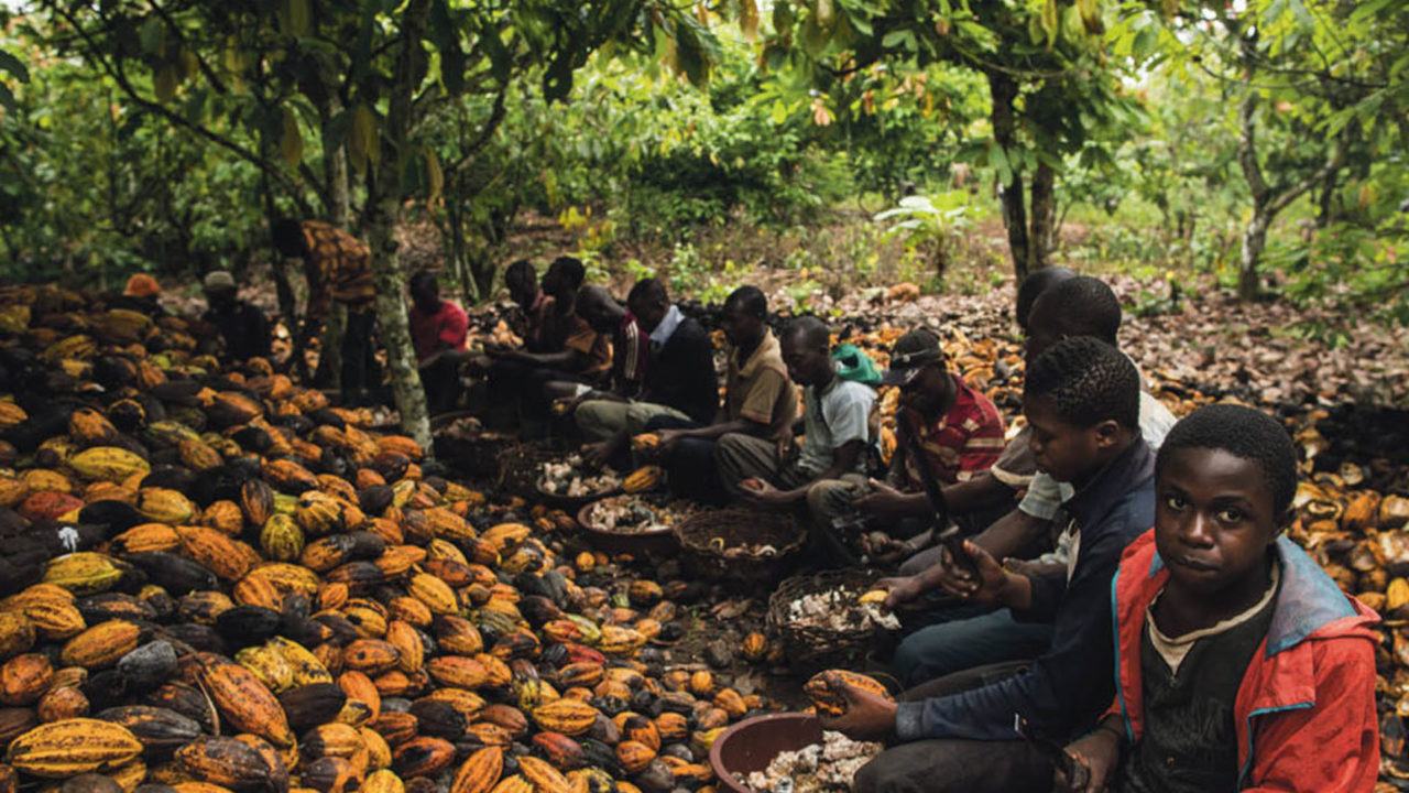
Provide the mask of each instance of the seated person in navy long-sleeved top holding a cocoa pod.
{"label": "seated person in navy long-sleeved top holding a cocoa pod", "polygon": [[857,773],[855,793],[1051,790],[1055,758],[1029,738],[1061,742],[1089,730],[1115,694],[1110,581],[1122,552],[1154,521],[1154,453],[1140,439],[1138,412],[1140,375],[1109,344],[1067,339],[1033,363],[1023,413],[1038,467],[1076,485],[1065,509],[1079,550],[1068,569],[1024,576],[968,540],[962,571],[944,586],[1053,622],[1051,648],[1027,669],[941,677],[899,706],[848,686],[845,714],[823,717],[823,727],[899,738]]}

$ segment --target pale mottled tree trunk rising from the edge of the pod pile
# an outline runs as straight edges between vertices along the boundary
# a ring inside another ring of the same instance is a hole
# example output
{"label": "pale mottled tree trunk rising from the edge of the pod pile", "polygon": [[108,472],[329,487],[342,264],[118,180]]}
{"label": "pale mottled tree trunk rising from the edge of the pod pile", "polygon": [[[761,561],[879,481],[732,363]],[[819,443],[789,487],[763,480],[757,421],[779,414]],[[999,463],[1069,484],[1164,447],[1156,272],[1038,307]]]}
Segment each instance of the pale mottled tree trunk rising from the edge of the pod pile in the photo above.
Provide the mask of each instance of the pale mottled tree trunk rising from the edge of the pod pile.
{"label": "pale mottled tree trunk rising from the edge of the pod pile", "polygon": [[411,349],[411,329],[406,316],[406,278],[402,275],[396,224],[402,217],[404,165],[416,155],[410,141],[411,100],[416,96],[426,51],[423,37],[431,0],[409,0],[402,11],[400,51],[392,75],[390,106],[382,135],[380,164],[368,162],[368,202],[362,226],[372,250],[372,277],[376,282],[376,317],[390,368],[392,395],[402,413],[402,430],[431,450],[430,411]]}

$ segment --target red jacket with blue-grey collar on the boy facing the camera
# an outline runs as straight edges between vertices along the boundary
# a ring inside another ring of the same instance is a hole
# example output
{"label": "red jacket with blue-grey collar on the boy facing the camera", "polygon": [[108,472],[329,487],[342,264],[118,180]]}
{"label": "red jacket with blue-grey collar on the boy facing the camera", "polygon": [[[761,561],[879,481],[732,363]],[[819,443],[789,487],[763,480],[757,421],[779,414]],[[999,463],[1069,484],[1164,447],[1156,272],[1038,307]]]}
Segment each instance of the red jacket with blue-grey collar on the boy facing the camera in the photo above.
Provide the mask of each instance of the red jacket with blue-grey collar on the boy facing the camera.
{"label": "red jacket with blue-grey collar on the boy facing the camera", "polygon": [[[1239,790],[1358,793],[1375,787],[1375,634],[1379,617],[1340,591],[1289,539],[1277,540],[1282,584],[1267,638],[1233,704]],[[1130,543],[1112,580],[1116,700],[1129,744],[1143,734],[1140,641],[1146,612],[1169,579],[1154,531]]]}

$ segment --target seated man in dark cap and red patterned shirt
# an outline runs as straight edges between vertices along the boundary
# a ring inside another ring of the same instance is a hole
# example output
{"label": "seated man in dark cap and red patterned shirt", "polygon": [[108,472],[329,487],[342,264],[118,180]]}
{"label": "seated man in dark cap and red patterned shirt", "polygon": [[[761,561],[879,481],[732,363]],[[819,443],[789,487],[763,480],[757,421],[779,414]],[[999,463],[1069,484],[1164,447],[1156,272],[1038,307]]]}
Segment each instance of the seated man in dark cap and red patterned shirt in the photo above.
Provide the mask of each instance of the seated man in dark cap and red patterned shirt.
{"label": "seated man in dark cap and red patterned shirt", "polygon": [[[916,440],[940,485],[968,481],[998,460],[1003,450],[1003,416],[988,396],[948,370],[938,336],[917,329],[896,340],[883,382],[900,388],[896,419],[913,422]],[[886,483],[823,480],[807,491],[807,505],[823,531],[836,529],[838,519],[859,515],[867,525],[885,526],[890,536],[905,539],[930,528],[934,519],[920,477],[919,467],[902,446]],[[971,531],[965,533],[972,533],[988,521],[969,515],[974,504],[964,495],[964,491],[954,494],[954,501],[948,502],[950,516],[958,518],[961,525],[968,523]],[[859,547],[864,539],[836,538],[837,546],[844,549]]]}

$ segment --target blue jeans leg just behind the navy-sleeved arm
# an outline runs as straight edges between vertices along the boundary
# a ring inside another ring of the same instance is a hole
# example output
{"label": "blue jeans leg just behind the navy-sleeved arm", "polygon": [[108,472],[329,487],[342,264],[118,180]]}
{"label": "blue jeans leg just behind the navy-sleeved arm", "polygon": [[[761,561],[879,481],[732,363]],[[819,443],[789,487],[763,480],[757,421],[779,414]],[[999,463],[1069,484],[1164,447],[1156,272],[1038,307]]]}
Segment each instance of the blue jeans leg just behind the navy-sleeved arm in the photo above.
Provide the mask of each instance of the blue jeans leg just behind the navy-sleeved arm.
{"label": "blue jeans leg just behind the navy-sleeved arm", "polygon": [[1050,622],[1019,622],[1000,608],[920,628],[896,648],[892,666],[902,684],[919,686],[976,666],[1034,659],[1051,641]]}

